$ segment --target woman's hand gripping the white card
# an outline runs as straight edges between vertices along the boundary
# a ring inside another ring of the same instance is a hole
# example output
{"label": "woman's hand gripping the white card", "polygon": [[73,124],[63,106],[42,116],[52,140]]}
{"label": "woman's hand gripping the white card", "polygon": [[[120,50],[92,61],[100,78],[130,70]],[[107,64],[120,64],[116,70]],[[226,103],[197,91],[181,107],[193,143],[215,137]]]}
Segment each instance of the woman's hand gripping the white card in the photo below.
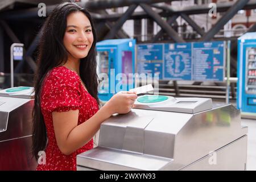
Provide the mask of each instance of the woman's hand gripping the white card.
{"label": "woman's hand gripping the white card", "polygon": [[126,114],[129,113],[136,99],[136,92],[122,91],[115,94],[104,107],[110,116],[115,113]]}

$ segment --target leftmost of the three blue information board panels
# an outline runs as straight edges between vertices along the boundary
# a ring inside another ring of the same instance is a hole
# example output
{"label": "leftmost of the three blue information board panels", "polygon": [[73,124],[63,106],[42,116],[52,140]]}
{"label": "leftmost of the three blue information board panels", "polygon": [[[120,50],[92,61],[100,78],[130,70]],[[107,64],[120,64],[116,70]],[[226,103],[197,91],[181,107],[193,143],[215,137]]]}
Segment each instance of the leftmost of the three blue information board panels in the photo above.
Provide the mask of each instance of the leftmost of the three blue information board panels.
{"label": "leftmost of the three blue information board panels", "polygon": [[137,72],[159,74],[163,79],[163,44],[137,45]]}

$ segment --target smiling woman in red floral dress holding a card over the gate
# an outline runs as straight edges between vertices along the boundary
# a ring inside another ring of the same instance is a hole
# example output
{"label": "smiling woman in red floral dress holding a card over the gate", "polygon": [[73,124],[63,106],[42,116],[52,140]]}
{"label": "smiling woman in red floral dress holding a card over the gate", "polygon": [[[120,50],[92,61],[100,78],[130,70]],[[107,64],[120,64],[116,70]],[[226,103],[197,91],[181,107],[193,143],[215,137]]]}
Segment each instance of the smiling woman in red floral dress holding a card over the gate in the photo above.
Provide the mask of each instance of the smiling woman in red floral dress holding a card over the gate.
{"label": "smiling woman in red floral dress holding a card over the gate", "polygon": [[37,170],[76,170],[76,155],[93,148],[105,119],[131,110],[137,95],[115,94],[98,110],[96,32],[88,11],[63,3],[49,15],[39,42],[32,152]]}

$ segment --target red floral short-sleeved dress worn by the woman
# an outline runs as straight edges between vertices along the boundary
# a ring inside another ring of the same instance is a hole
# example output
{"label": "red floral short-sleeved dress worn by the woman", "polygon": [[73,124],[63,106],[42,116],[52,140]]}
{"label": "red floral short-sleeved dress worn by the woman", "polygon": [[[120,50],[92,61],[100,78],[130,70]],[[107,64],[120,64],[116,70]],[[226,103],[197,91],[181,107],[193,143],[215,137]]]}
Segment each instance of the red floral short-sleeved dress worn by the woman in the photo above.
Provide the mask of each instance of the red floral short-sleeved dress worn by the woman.
{"label": "red floral short-sleeved dress worn by the woman", "polygon": [[93,139],[71,155],[63,154],[56,143],[52,112],[79,109],[78,125],[80,125],[98,111],[96,99],[86,92],[76,72],[60,66],[53,68],[44,79],[41,109],[46,123],[48,143],[45,150],[46,164],[39,164],[36,170],[76,171],[76,155],[92,149]]}

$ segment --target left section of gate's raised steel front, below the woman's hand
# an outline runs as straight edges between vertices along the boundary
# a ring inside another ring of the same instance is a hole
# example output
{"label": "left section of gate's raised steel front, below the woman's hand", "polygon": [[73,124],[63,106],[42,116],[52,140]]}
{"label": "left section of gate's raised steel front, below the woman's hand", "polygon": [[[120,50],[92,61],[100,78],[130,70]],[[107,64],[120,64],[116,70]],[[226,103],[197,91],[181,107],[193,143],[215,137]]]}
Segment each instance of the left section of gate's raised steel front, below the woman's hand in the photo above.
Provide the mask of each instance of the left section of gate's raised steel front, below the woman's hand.
{"label": "left section of gate's raised steel front, below the woman's hand", "polygon": [[[154,115],[131,111],[115,115],[101,125],[99,146],[143,152],[144,128]],[[112,133],[112,135],[109,135]]]}

